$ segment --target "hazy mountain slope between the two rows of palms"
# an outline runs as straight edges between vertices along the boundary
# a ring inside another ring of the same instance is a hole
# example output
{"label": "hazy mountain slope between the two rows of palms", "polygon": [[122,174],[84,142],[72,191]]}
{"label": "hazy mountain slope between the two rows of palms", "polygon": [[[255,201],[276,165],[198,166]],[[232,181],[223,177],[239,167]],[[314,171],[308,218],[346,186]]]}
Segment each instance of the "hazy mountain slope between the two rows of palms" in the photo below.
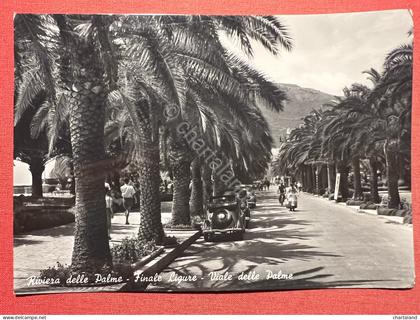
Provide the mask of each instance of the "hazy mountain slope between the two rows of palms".
{"label": "hazy mountain slope between the two rows of palms", "polygon": [[279,146],[279,137],[284,136],[287,128],[293,129],[302,123],[302,118],[313,109],[319,109],[323,104],[334,100],[334,96],[310,88],[302,88],[295,84],[278,84],[287,94],[283,111],[273,112],[261,108],[274,138],[274,148]]}

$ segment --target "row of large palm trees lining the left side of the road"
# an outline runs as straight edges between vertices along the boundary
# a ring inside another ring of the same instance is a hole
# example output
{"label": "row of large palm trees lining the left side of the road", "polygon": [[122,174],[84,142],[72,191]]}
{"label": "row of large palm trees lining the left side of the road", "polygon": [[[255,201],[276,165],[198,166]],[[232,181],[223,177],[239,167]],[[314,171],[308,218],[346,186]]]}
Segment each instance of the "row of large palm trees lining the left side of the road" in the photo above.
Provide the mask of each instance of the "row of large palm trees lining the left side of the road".
{"label": "row of large palm trees lining the left side of the road", "polygon": [[[272,16],[16,15],[15,156],[71,156],[74,272],[112,264],[104,214],[109,172],[127,164],[138,172],[139,240],[162,243],[161,170],[173,177],[176,225],[203,213],[212,187],[223,189],[217,159],[243,182],[267,168],[272,138],[259,106],[280,111],[286,96],[229,52],[221,35],[248,57],[252,42],[272,54],[292,48]],[[195,128],[212,157],[194,152],[177,131],[182,123]]]}

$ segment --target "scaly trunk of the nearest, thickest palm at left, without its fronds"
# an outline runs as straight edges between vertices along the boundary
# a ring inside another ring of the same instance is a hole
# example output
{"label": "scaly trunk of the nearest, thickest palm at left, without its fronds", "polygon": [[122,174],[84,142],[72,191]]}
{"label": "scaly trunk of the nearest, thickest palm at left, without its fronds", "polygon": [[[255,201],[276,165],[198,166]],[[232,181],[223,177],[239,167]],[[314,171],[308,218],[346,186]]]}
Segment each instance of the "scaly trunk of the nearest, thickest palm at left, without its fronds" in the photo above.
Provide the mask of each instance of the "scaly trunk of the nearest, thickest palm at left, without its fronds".
{"label": "scaly trunk of the nearest, thickest palm at left, without its fronds", "polygon": [[[104,70],[94,44],[77,39],[73,52],[76,77],[67,79],[70,99],[70,136],[76,182],[76,227],[71,268],[97,272],[112,264],[105,211]],[[73,80],[73,81],[72,81]]]}

